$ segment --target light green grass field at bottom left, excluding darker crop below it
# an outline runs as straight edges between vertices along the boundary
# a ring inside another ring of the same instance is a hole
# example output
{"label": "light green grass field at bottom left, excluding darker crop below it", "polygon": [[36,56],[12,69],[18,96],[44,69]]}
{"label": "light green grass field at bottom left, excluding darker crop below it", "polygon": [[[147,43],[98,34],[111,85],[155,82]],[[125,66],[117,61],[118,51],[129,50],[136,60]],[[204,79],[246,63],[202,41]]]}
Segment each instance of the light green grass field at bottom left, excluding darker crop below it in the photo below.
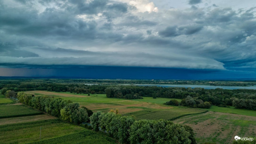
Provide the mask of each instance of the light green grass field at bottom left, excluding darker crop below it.
{"label": "light green grass field at bottom left, excluding darker crop below it", "polygon": [[2,125],[0,126],[0,143],[29,143],[38,141],[40,138],[40,128],[41,140],[86,130],[59,119]]}

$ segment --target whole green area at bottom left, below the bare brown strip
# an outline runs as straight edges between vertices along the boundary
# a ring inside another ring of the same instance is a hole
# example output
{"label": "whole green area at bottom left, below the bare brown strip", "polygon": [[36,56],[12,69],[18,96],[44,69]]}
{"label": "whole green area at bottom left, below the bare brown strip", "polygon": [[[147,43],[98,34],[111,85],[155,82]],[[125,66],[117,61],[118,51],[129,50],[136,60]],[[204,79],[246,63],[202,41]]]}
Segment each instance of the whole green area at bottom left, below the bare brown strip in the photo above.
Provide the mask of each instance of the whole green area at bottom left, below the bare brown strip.
{"label": "whole green area at bottom left, below the bare brown strip", "polygon": [[39,141],[40,128],[40,143],[74,143],[73,140],[76,143],[83,141],[93,143],[97,137],[100,138],[98,142],[114,143],[114,140],[99,133],[65,123],[59,119],[2,125],[0,126],[0,143],[30,143]]}

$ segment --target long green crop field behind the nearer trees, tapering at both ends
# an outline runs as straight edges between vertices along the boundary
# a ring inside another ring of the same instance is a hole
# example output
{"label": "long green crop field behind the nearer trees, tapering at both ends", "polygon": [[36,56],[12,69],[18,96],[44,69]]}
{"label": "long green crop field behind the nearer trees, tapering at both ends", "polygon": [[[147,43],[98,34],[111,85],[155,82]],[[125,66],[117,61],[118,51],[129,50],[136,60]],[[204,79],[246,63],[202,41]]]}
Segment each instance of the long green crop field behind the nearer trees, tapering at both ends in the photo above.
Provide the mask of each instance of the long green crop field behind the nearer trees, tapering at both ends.
{"label": "long green crop field behind the nearer trees, tapering at both ends", "polygon": [[132,113],[124,114],[127,116],[135,117],[136,120],[175,120],[177,118],[183,117],[185,115],[192,115],[192,114],[200,114],[206,113],[207,110],[200,110],[200,109],[191,109],[185,107],[175,107],[173,109],[162,110],[162,109],[149,109],[149,110],[141,110],[135,111]]}

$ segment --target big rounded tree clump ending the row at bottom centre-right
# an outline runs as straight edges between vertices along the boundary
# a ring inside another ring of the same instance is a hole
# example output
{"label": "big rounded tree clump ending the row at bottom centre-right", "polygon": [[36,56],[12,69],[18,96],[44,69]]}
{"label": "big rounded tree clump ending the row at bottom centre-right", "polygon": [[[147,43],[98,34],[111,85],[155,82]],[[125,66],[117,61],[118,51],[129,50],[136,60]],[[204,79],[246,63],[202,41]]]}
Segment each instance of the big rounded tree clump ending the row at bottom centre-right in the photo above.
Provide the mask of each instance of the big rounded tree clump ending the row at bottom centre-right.
{"label": "big rounded tree clump ending the row at bottom centre-right", "polygon": [[190,144],[191,134],[179,125],[166,120],[139,120],[129,129],[131,144],[161,143]]}

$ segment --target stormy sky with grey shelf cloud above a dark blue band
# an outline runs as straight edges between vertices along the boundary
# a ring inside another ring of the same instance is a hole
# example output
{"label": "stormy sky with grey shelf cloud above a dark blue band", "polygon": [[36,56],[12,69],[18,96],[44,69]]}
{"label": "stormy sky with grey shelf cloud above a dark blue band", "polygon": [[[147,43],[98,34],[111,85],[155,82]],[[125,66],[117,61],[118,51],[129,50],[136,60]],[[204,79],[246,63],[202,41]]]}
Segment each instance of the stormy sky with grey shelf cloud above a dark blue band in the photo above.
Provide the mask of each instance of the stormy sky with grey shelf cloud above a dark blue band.
{"label": "stormy sky with grey shelf cloud above a dark blue band", "polygon": [[256,2],[0,0],[0,76],[256,79]]}

